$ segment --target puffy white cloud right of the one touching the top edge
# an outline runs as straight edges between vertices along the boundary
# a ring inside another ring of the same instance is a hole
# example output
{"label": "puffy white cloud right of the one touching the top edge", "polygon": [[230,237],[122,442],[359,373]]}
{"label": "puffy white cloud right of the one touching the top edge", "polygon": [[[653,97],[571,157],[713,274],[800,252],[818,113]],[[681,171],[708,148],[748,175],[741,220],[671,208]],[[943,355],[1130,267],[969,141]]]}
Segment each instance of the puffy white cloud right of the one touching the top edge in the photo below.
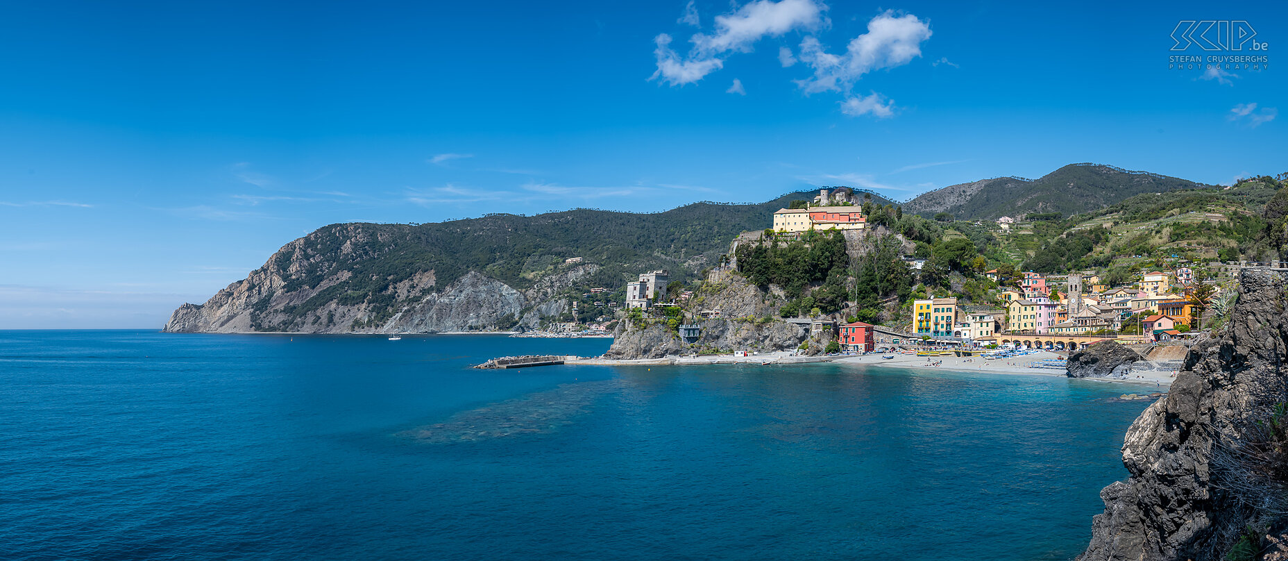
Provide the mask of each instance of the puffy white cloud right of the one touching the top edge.
{"label": "puffy white cloud right of the one touching the top edge", "polygon": [[863,75],[907,64],[921,55],[921,44],[930,39],[930,26],[916,15],[884,12],[868,22],[868,32],[854,37],[845,54],[829,54],[814,36],[801,41],[801,62],[814,76],[799,80],[806,93],[848,92]]}

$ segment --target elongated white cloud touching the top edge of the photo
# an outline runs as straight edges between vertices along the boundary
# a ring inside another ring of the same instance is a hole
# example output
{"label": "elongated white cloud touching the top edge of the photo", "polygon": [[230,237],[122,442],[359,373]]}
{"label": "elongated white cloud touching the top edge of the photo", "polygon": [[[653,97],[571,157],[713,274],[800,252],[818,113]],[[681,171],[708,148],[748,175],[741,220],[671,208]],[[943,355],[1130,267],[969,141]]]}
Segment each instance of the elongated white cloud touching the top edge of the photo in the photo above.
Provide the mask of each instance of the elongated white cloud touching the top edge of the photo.
{"label": "elongated white cloud touching the top edge of the photo", "polygon": [[[692,4],[689,4],[692,6]],[[684,85],[702,80],[708,74],[724,67],[723,55],[730,52],[750,53],[751,46],[765,36],[782,36],[801,28],[817,28],[823,25],[823,4],[814,0],[756,0],[738,8],[733,13],[715,17],[715,32],[694,34],[689,37],[693,48],[684,57],[671,49],[671,36],[659,34],[653,39],[657,49],[657,71],[649,80],[658,77],[670,85]],[[689,9],[685,8],[681,22],[689,23]],[[697,12],[693,12],[697,21]]]}

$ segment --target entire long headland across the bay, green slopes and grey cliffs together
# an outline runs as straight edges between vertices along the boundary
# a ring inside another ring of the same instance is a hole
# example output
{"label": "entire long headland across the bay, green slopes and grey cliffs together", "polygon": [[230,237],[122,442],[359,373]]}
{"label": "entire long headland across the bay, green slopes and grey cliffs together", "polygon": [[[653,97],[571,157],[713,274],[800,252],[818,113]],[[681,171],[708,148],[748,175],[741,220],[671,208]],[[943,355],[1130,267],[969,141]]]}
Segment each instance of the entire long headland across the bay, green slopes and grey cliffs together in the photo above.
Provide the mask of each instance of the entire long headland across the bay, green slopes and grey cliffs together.
{"label": "entire long headland across the bay, green slopes and grey cliffs together", "polygon": [[[719,262],[734,236],[772,226],[774,210],[815,195],[793,192],[761,204],[696,202],[653,214],[574,209],[426,224],[331,224],[285,245],[210,302],[179,308],[166,329],[535,326],[542,317],[568,313],[573,293],[595,286],[621,291],[640,272],[665,268],[671,280],[694,280]],[[855,195],[863,200],[864,193]],[[873,196],[872,202],[890,201]],[[571,258],[581,261],[565,263]],[[473,312],[457,303],[488,291],[506,298],[475,302]],[[608,311],[581,310],[591,317]]]}

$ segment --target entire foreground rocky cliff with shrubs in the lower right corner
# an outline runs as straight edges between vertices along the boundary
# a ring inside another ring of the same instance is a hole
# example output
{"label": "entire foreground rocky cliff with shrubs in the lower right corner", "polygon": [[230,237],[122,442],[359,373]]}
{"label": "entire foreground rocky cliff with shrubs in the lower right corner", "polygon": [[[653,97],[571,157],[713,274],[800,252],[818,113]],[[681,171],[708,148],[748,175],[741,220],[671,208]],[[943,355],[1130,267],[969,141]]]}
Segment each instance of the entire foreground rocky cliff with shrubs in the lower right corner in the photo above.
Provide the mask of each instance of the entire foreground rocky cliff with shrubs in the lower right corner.
{"label": "entire foreground rocky cliff with shrubs in the lower right corner", "polygon": [[1230,322],[1127,431],[1082,561],[1256,558],[1288,515],[1283,273],[1245,271]]}

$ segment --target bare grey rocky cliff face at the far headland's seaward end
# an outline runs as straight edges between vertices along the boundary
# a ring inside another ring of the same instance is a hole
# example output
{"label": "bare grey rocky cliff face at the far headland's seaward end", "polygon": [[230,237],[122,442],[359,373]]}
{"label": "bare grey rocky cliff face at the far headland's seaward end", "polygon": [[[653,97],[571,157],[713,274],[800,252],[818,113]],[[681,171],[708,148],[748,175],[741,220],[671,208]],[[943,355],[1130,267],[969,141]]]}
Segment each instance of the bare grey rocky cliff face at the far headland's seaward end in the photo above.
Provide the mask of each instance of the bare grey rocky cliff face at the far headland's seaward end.
{"label": "bare grey rocky cliff face at the far headland's seaward end", "polygon": [[[319,237],[322,240],[319,240]],[[343,240],[343,241],[341,241]],[[330,245],[327,245],[330,244]],[[385,267],[406,254],[388,232],[341,224],[295,240],[202,304],[170,315],[171,333],[440,333],[537,328],[569,308],[563,294],[600,270],[546,266],[524,289],[468,270],[442,285],[434,264]],[[384,268],[388,272],[367,271]],[[362,279],[358,279],[362,277]],[[362,280],[362,282],[357,282]],[[374,280],[374,281],[372,281]]]}

